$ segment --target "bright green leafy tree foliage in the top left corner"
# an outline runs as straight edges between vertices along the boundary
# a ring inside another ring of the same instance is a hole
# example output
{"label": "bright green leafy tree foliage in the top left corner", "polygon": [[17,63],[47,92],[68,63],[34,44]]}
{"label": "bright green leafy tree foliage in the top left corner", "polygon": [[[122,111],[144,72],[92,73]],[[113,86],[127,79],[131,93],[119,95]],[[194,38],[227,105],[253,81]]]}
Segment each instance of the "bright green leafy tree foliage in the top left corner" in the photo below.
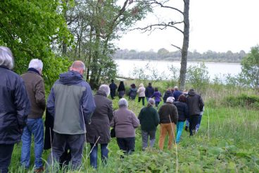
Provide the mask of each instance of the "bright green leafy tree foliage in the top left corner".
{"label": "bright green leafy tree foliage in the top left corner", "polygon": [[[56,0],[1,1],[0,43],[15,56],[15,72],[24,73],[30,59],[42,59],[44,78],[52,85],[58,73],[67,70],[67,60],[55,57],[51,42],[72,41]],[[63,62],[64,61],[64,62]]]}

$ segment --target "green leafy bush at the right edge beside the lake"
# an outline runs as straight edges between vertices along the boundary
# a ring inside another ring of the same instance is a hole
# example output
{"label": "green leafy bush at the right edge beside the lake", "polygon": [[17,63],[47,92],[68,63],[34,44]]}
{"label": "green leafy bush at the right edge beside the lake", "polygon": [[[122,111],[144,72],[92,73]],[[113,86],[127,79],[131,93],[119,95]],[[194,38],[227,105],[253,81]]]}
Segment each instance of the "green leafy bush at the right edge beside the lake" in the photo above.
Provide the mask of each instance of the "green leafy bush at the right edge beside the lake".
{"label": "green leafy bush at the right edge beside the lake", "polygon": [[251,52],[242,59],[241,65],[241,73],[244,73],[247,83],[259,91],[259,45],[251,48]]}

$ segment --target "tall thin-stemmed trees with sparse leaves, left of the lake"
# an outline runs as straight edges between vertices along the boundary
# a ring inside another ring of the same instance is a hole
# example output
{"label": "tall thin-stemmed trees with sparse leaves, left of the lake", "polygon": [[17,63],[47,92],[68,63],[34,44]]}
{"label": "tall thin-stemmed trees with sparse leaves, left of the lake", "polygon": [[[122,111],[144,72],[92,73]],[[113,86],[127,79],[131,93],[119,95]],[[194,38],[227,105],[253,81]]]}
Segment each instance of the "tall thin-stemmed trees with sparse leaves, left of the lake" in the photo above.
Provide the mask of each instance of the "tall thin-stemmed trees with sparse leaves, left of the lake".
{"label": "tall thin-stemmed trees with sparse leaves, left of the lake", "polygon": [[[121,2],[122,6],[118,5]],[[70,6],[67,2],[65,4]],[[112,41],[141,20],[148,10],[130,0],[75,0],[75,5],[64,13],[75,37],[75,46],[67,49],[67,55],[70,59],[82,59],[86,63],[87,80],[92,88],[115,77],[116,65],[111,57],[115,47]]]}

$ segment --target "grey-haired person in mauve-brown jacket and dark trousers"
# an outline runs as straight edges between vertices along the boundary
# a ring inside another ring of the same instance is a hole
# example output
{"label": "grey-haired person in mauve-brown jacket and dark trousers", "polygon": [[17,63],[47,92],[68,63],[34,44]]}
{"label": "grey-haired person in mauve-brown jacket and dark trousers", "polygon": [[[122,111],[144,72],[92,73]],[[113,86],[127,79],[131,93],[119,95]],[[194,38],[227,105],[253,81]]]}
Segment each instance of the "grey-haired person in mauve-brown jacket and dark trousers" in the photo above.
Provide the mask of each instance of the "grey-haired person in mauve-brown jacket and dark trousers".
{"label": "grey-haired person in mauve-brown jacket and dark trousers", "polygon": [[125,154],[131,154],[135,150],[135,129],[140,125],[134,112],[127,109],[125,98],[118,102],[119,109],[113,112],[113,120],[110,126],[115,128],[115,136],[120,150]]}

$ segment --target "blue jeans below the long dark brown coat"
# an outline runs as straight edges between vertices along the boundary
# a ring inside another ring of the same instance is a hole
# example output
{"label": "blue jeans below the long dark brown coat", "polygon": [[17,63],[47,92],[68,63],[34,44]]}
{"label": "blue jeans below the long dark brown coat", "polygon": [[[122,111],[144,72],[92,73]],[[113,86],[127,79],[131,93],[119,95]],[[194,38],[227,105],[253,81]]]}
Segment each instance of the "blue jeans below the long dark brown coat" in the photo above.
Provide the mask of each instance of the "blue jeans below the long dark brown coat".
{"label": "blue jeans below the long dark brown coat", "polygon": [[[90,143],[91,153],[90,153],[90,165],[97,169],[97,155],[98,155],[98,143],[94,146],[94,143]],[[107,148],[108,143],[101,143],[101,161],[106,165],[106,160],[108,159],[109,150]]]}

